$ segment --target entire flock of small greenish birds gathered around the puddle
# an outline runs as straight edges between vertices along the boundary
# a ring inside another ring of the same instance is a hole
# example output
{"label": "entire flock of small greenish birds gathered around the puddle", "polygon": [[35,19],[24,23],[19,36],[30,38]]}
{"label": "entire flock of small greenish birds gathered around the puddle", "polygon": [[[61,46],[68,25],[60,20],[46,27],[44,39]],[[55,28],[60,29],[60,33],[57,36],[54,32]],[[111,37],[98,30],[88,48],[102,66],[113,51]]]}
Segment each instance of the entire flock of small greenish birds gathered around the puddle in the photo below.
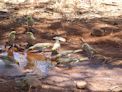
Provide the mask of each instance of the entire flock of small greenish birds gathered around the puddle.
{"label": "entire flock of small greenish birds gathered around the puddle", "polygon": [[[34,21],[32,17],[28,16],[28,27],[31,28],[33,23]],[[23,51],[20,51],[22,46],[15,43],[17,38],[16,34],[16,31],[9,33],[8,41],[6,42],[5,47],[0,49],[2,53],[6,52],[6,55],[0,53],[0,59],[5,63],[5,66],[12,66],[13,64],[16,64],[18,67],[22,68],[24,71],[23,73],[26,74],[24,79],[26,79],[31,86],[37,85],[38,80],[35,78],[46,78],[48,76],[49,69],[61,64],[70,68],[71,63],[79,61],[95,61],[96,59],[98,60],[98,58],[103,61],[108,61],[108,58],[97,54],[97,51],[91,45],[86,43],[84,39],[81,39],[81,48],[77,50],[60,51],[61,42],[66,42],[65,38],[56,36],[52,38],[55,40],[54,43],[33,44],[33,42],[36,40],[36,37],[34,36],[33,32],[29,30],[26,32],[27,45]],[[82,51],[86,53],[86,57],[78,58],[71,56],[71,54]],[[25,64],[22,65],[22,62]]]}

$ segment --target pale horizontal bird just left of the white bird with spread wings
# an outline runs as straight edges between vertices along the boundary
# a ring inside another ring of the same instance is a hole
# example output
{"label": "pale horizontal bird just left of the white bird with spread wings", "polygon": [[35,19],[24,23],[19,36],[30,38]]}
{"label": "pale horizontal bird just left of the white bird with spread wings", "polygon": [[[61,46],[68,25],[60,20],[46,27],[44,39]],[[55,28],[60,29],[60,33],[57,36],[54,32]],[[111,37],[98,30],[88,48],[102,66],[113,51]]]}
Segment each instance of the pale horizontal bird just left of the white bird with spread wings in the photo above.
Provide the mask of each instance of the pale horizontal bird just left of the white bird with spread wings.
{"label": "pale horizontal bird just left of the white bird with spread wings", "polygon": [[42,52],[44,49],[52,46],[52,43],[36,43],[35,45],[29,47],[28,50],[37,50],[38,52]]}

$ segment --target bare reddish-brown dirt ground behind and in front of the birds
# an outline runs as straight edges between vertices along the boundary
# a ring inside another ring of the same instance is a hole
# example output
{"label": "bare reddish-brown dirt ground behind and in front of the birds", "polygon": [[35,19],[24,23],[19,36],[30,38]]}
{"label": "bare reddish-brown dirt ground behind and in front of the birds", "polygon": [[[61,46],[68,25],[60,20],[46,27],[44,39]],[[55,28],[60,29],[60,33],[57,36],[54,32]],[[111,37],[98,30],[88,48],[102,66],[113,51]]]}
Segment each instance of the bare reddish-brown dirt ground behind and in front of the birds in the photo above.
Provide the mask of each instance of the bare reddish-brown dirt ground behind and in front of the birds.
{"label": "bare reddish-brown dirt ground behind and in front of the birds", "polygon": [[[109,25],[109,27],[106,28],[106,25]],[[11,23],[11,21],[6,18],[0,20],[0,44],[5,44],[8,33],[13,30],[17,32],[16,43],[26,43],[25,27],[25,25],[17,25],[14,22]],[[107,35],[101,37],[91,35],[92,29],[100,29],[102,27],[108,31]],[[67,40],[66,43],[62,43],[63,50],[78,49],[81,46],[80,38],[83,37],[85,41],[98,50],[100,54],[106,57],[122,58],[122,16],[117,18],[95,18],[91,20],[77,19],[72,22],[40,19],[33,28],[36,37],[35,43],[53,42],[52,38],[54,36],[62,36]],[[86,61],[85,63],[83,62],[74,65],[70,70],[55,68],[50,72],[49,77],[46,80],[41,81],[42,88],[39,88],[37,92],[110,91],[112,90],[111,88],[109,89],[110,85],[111,87],[114,87],[114,84],[118,84],[119,86],[122,85],[122,79],[120,79],[122,76],[121,65],[122,60],[121,62],[116,61],[116,63],[110,67],[109,65],[95,66],[89,63],[89,61]],[[100,78],[106,79],[101,81]],[[117,79],[119,79],[119,81],[117,81]],[[84,90],[77,89],[74,86],[74,81],[77,80],[86,80],[89,83],[88,88]],[[107,84],[108,82],[110,82],[110,84]],[[9,81],[4,85],[0,83],[0,92],[8,92],[8,89],[9,92],[17,92],[14,88],[14,82],[11,83],[12,82]],[[95,83],[96,85],[94,85]],[[101,89],[97,89],[97,85],[99,85]]]}

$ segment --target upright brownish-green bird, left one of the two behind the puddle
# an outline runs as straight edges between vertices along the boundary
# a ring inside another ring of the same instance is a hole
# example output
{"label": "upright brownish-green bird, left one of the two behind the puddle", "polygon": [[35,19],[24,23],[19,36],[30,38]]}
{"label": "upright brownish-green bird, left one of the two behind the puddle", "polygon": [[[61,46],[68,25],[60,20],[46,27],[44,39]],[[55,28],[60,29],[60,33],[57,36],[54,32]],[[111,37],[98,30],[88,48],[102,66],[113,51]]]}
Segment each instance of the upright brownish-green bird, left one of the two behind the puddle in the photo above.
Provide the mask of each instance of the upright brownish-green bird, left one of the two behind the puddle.
{"label": "upright brownish-green bird, left one of the two behind the puddle", "polygon": [[13,47],[15,44],[15,39],[16,39],[16,31],[12,31],[8,35],[8,41],[5,44],[5,48],[7,46]]}

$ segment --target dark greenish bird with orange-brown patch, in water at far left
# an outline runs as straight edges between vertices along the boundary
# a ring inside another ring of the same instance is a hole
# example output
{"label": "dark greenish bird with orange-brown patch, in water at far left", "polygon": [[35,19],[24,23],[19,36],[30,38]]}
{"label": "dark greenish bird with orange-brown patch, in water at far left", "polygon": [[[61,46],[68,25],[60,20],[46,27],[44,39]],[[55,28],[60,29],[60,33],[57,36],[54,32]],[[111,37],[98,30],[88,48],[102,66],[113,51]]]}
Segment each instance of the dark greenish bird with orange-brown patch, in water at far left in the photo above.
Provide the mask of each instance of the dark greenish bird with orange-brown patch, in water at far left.
{"label": "dark greenish bird with orange-brown patch, in water at far left", "polygon": [[3,60],[6,66],[11,66],[12,64],[17,64],[19,65],[19,62],[14,59],[14,50],[12,48],[9,48],[7,51],[7,55],[1,55],[0,59]]}

